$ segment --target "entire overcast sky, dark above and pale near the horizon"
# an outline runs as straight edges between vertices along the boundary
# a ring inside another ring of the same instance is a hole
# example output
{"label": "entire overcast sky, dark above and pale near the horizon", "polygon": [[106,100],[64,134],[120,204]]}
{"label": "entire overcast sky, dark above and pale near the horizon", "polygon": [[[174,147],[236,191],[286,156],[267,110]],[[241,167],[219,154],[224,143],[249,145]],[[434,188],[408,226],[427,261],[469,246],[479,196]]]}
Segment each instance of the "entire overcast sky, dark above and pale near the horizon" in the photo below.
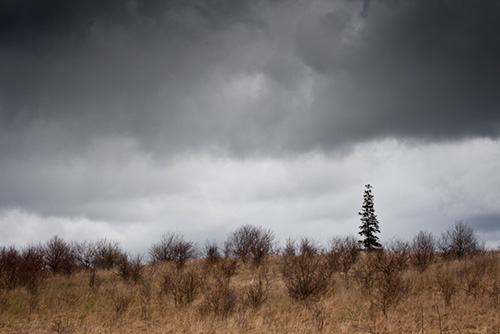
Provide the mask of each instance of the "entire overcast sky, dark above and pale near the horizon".
{"label": "entire overcast sky, dark above and pale near the horizon", "polygon": [[500,245],[497,0],[0,3],[0,245],[462,220]]}

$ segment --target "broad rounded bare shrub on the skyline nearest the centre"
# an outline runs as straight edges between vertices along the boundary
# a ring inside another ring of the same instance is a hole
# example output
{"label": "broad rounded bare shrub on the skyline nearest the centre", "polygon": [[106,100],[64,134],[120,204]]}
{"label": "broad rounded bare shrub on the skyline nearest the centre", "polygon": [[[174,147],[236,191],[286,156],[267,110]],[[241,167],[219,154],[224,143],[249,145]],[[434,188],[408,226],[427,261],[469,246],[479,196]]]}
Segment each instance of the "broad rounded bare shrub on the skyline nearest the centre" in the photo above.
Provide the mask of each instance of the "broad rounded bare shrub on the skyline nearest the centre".
{"label": "broad rounded bare shrub on the skyline nearest the centre", "polygon": [[226,248],[232,256],[243,263],[249,260],[259,267],[272,254],[274,234],[262,227],[244,225],[234,231],[226,241]]}

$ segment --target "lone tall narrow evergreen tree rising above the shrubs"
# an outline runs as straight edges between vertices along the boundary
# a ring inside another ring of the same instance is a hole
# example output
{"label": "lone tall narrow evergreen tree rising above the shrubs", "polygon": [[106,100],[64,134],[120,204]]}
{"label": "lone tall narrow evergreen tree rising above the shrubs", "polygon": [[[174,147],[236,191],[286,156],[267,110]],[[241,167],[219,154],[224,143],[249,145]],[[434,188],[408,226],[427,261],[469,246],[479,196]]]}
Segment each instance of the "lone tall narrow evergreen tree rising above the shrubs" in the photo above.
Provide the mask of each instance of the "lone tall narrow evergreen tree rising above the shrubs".
{"label": "lone tall narrow evergreen tree rising above the shrubs", "polygon": [[378,237],[375,233],[380,233],[378,227],[377,216],[375,215],[375,209],[373,207],[373,195],[372,186],[367,184],[365,193],[363,195],[363,206],[362,211],[358,214],[361,216],[361,226],[359,227],[361,231],[359,235],[363,237],[359,243],[367,250],[381,248],[382,246],[378,242]]}

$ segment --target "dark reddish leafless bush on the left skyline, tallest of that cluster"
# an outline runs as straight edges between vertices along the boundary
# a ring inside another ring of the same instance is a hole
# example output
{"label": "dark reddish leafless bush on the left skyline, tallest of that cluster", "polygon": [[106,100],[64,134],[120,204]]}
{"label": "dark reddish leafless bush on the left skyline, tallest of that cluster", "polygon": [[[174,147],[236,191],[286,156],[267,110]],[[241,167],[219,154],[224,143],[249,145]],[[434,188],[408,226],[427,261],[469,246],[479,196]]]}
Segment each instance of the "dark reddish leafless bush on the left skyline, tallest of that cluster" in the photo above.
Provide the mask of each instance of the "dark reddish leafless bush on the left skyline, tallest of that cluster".
{"label": "dark reddish leafless bush on the left skyline, tallest of that cluster", "polygon": [[71,275],[76,269],[75,252],[71,246],[59,238],[53,236],[43,248],[45,265],[54,274]]}

